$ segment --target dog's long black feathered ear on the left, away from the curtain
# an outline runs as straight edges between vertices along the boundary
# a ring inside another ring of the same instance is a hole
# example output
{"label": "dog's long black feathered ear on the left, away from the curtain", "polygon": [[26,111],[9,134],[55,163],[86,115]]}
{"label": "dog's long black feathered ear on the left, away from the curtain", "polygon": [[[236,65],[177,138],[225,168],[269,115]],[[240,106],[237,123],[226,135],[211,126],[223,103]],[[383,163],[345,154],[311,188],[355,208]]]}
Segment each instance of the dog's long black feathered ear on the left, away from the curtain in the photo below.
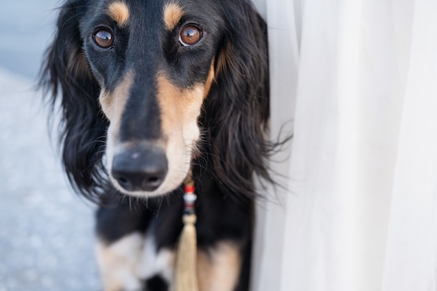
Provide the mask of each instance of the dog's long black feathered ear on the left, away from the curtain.
{"label": "dog's long black feathered ear on the left, away from the curtain", "polygon": [[75,190],[93,199],[103,185],[107,120],[100,112],[100,88],[82,51],[79,21],[87,1],[67,1],[61,7],[57,33],[47,49],[41,69],[40,87],[50,98],[52,112],[61,106],[60,142],[68,179]]}

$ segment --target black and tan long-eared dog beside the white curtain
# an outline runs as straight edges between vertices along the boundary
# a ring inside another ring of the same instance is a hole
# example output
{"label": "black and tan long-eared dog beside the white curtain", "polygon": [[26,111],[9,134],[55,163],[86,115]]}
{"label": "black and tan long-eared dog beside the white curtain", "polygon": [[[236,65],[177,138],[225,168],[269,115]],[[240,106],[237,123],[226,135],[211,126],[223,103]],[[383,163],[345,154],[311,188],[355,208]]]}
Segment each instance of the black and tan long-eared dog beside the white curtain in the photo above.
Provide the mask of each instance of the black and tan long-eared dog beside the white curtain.
{"label": "black and tan long-eared dog beside the white curtain", "polygon": [[267,26],[248,0],[68,0],[40,86],[64,170],[97,202],[105,291],[168,290],[183,181],[200,291],[249,289],[254,177],[272,182]]}

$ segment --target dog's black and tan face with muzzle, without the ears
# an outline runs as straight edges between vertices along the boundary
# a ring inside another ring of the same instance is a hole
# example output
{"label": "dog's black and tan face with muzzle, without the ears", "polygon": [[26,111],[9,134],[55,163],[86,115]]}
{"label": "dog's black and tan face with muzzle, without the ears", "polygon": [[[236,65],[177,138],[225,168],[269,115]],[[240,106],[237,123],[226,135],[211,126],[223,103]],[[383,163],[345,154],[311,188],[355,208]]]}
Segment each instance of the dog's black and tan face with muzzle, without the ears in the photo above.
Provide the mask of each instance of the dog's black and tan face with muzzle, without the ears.
{"label": "dog's black and tan face with muzzle, without the ears", "polygon": [[[128,195],[179,186],[200,138],[198,117],[221,43],[214,1],[96,1],[80,33],[110,121],[106,160]],[[97,9],[96,9],[97,7]]]}

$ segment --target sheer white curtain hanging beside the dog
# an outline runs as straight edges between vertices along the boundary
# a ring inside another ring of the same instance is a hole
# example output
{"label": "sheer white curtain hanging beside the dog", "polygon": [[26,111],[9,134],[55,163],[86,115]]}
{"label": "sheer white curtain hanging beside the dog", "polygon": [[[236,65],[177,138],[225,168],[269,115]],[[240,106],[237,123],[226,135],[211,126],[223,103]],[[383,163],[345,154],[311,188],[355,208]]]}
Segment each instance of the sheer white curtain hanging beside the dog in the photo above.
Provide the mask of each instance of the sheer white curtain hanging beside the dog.
{"label": "sheer white curtain hanging beside the dog", "polygon": [[437,1],[255,2],[272,136],[294,137],[258,201],[252,290],[437,290]]}

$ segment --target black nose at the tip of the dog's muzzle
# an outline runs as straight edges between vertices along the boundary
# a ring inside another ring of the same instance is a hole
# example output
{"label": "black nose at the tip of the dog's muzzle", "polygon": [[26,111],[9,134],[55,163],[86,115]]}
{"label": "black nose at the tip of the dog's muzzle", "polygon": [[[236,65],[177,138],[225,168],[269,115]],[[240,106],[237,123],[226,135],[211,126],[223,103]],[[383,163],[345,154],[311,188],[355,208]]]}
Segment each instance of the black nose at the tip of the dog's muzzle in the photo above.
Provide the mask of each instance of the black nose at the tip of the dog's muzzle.
{"label": "black nose at the tip of the dog's muzzle", "polygon": [[111,174],[126,191],[154,191],[167,174],[167,158],[161,149],[128,149],[114,156]]}

